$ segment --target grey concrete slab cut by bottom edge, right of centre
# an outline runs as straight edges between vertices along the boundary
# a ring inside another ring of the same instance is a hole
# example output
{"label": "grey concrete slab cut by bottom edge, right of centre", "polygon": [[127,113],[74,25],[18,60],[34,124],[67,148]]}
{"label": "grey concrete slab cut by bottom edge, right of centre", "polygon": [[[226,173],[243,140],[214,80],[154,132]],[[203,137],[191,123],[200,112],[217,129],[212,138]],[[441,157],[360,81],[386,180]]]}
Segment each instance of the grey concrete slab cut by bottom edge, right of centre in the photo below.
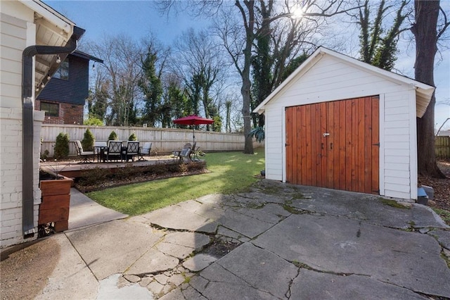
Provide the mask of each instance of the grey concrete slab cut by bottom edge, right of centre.
{"label": "grey concrete slab cut by bottom edge, right of centre", "polygon": [[301,269],[290,299],[428,299],[395,285],[361,275],[333,275]]}

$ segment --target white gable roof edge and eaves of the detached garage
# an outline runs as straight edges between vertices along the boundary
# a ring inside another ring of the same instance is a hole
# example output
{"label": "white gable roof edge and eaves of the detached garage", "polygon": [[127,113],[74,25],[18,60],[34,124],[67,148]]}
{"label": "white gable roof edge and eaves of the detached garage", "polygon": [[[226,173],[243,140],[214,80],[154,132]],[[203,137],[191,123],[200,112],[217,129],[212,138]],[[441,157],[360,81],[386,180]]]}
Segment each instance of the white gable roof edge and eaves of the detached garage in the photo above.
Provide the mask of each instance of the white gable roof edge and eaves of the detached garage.
{"label": "white gable roof edge and eaves of the detached garage", "polygon": [[430,85],[425,85],[422,82],[418,82],[416,80],[412,80],[409,77],[404,77],[398,75],[396,73],[392,73],[387,70],[383,70],[381,68],[377,68],[368,63],[364,63],[362,61],[358,61],[355,58],[350,56],[346,56],[344,54],[340,54],[330,49],[326,49],[323,46],[319,47],[316,51],[314,51],[309,58],[302,63],[286,80],[284,80],[281,85],[279,85],[274,92],[272,92],[269,96],[267,96],[264,101],[262,101],[257,108],[253,112],[255,113],[264,113],[266,109],[266,104],[269,101],[278,98],[279,95],[283,94],[283,92],[288,89],[293,82],[297,82],[300,78],[303,77],[311,68],[314,68],[316,63],[321,61],[324,56],[332,56],[334,60],[342,61],[347,65],[352,65],[359,70],[364,70],[364,72],[376,75],[378,77],[383,77],[385,80],[397,83],[399,85],[411,85],[416,89],[416,115],[421,118],[425,113],[428,104],[430,103],[430,99],[432,93],[435,88]]}

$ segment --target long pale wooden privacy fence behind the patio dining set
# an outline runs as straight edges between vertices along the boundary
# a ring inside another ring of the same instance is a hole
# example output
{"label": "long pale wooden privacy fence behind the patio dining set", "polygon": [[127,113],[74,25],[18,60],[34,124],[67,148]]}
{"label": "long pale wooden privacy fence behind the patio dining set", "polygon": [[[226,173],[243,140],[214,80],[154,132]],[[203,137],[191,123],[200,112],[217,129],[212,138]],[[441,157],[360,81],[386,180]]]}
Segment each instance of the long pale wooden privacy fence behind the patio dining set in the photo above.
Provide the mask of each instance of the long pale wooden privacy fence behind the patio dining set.
{"label": "long pale wooden privacy fence behind the patio dining set", "polygon": [[[139,142],[152,142],[152,153],[169,154],[181,149],[184,144],[193,143],[193,131],[176,128],[152,128],[152,127],[113,127],[113,126],[87,126],[87,125],[55,125],[43,124],[41,127],[41,153],[49,151],[49,157],[53,156],[53,147],[56,137],[60,132],[67,133],[70,137],[70,156],[76,155],[73,141],[84,137],[86,129],[91,130],[97,142],[106,142],[110,133],[114,130],[118,140],[127,141],[134,133]],[[195,141],[202,151],[243,151],[244,135],[236,133],[209,132],[195,130]],[[264,146],[263,143],[253,142],[253,147]]]}

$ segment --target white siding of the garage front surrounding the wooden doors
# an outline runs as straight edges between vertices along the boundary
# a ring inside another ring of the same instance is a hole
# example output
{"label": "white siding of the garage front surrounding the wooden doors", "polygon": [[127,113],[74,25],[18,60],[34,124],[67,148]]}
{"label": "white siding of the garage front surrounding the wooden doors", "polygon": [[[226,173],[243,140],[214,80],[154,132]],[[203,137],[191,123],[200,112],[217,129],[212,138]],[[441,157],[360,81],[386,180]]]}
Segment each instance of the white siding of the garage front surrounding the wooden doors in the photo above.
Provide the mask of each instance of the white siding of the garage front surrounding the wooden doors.
{"label": "white siding of the garage front surrounding the wooden doors", "polygon": [[285,181],[285,107],[380,95],[380,194],[416,199],[414,87],[327,54],[318,60],[266,104],[266,178]]}

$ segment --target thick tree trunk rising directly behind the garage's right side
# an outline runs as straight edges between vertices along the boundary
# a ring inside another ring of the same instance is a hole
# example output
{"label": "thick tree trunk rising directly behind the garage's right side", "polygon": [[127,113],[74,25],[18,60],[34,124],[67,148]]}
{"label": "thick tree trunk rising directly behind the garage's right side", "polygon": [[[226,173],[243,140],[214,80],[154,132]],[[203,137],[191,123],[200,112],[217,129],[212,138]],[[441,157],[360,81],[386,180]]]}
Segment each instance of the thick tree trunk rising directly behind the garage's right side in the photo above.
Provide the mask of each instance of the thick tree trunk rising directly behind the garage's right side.
{"label": "thick tree trunk rising directly behind the garage's right side", "polygon": [[[438,1],[414,1],[416,23],[411,27],[416,37],[416,80],[435,86],[434,67],[437,52]],[[435,154],[435,94],[433,93],[427,111],[417,118],[418,173],[436,178],[445,178],[437,168]]]}

